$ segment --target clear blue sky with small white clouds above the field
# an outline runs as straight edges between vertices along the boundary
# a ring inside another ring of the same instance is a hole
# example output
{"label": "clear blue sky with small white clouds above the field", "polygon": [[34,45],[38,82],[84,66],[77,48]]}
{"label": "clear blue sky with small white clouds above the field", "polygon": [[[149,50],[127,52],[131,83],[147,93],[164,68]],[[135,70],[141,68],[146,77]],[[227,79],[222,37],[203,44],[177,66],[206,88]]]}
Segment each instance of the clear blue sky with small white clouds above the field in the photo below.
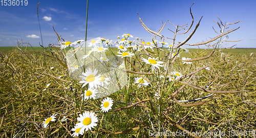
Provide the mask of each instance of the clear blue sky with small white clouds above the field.
{"label": "clear blue sky with small white clouds above the field", "polygon": [[[29,42],[33,47],[39,46],[41,36],[36,13],[38,3],[41,3],[38,14],[44,46],[58,43],[52,26],[67,41],[84,39],[86,1],[27,1],[27,6],[0,5],[0,47],[17,45],[17,40]],[[103,37],[116,41],[117,36],[128,33],[151,42],[152,35],[140,25],[137,12],[151,30],[158,31],[162,20],[163,22],[169,20],[174,25],[189,26],[191,24],[189,7],[193,2],[195,4],[191,11],[195,18],[194,26],[187,34],[178,35],[177,42],[183,41],[191,33],[201,16],[203,18],[198,30],[187,43],[202,42],[216,37],[220,34],[220,28],[213,19],[219,21],[218,15],[223,22],[243,20],[229,26],[227,30],[238,27],[240,29],[228,34],[226,39],[242,41],[224,42],[225,47],[237,44],[236,48],[256,48],[256,10],[253,10],[256,1],[89,1],[88,40]],[[215,33],[212,27],[219,34]],[[161,34],[165,38],[173,38],[174,34],[168,29],[175,30],[175,27],[167,22]]]}

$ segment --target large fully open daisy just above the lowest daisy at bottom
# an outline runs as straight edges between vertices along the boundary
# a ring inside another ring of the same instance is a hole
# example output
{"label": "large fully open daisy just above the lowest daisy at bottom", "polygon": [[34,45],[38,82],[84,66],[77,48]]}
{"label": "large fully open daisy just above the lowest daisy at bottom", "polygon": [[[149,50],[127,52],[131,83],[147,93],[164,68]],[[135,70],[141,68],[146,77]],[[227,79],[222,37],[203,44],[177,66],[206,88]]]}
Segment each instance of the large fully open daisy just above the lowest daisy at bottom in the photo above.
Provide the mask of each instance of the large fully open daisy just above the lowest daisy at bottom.
{"label": "large fully open daisy just above the lowest daisy at bottom", "polygon": [[94,112],[83,112],[79,114],[77,120],[79,123],[76,124],[77,128],[81,128],[79,132],[83,132],[84,130],[88,131],[88,129],[92,130],[95,126],[97,126],[98,118],[97,115],[94,115]]}

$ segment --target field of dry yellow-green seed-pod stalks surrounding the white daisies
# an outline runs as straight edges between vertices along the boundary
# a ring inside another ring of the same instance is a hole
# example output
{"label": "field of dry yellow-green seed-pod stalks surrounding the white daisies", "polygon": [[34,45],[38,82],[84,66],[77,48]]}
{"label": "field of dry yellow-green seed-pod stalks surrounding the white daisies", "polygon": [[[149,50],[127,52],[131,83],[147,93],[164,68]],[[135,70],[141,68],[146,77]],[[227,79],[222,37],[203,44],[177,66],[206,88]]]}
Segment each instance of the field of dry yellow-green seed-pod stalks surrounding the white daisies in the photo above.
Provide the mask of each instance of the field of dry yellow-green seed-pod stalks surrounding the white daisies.
{"label": "field of dry yellow-green seed-pod stalks surrounding the white daisies", "polygon": [[[186,34],[194,24],[191,9],[190,14],[193,22],[189,29],[181,34]],[[189,44],[207,43],[209,48],[219,47],[215,51],[189,50],[185,53],[187,50],[181,49],[181,46],[194,33],[191,33],[184,42],[176,43],[175,38],[184,26],[175,26],[176,31],[172,31],[174,37],[170,41],[160,35],[165,24],[159,32],[154,32],[143,24],[141,18],[140,21],[141,25],[154,35],[154,42],[146,44],[143,40],[137,39],[133,44],[134,47],[141,47],[143,50],[128,49],[127,52],[131,52],[134,56],[124,57],[122,60],[116,60],[115,56],[120,55],[117,54],[118,50],[112,48],[113,45],[110,43],[107,44],[109,51],[104,56],[114,56],[113,59],[109,58],[110,64],[124,61],[126,67],[117,70],[127,73],[127,82],[123,84],[120,81],[117,85],[119,90],[98,99],[82,101],[81,95],[84,90],[88,90],[88,85],[82,88],[79,77],[76,79],[70,77],[73,62],[79,61],[78,63],[83,65],[80,67],[85,69],[93,68],[95,66],[92,65],[99,63],[90,60],[98,56],[97,52],[87,57],[86,62],[80,60],[82,57],[79,51],[88,53],[91,50],[84,51],[81,43],[78,44],[78,48],[67,47],[63,50],[50,44],[45,48],[45,53],[22,50],[20,47],[12,52],[2,52],[1,136],[68,137],[73,134],[74,131],[71,130],[79,122],[77,121],[79,114],[86,111],[95,112],[98,118],[95,128],[84,131],[84,136],[91,137],[148,137],[154,132],[161,135],[163,132],[183,130],[201,133],[225,131],[228,135],[231,131],[252,132],[256,129],[255,54],[224,53],[223,49],[220,49],[223,42],[221,39]],[[217,24],[221,26],[223,22]],[[192,32],[198,27],[199,23]],[[226,25],[223,27],[226,28]],[[225,33],[224,29],[216,38],[234,31],[229,30]],[[159,37],[158,41],[156,41],[157,37]],[[131,35],[124,34],[124,38],[131,38]],[[60,37],[58,39],[63,42]],[[100,39],[99,43],[106,41],[108,40]],[[121,39],[119,43],[120,41]],[[163,41],[170,44],[169,51],[161,49]],[[130,42],[123,44],[127,48],[130,45],[132,45]],[[145,49],[148,46],[154,49]],[[172,57],[173,53],[176,53],[174,57]],[[184,55],[178,57],[180,53]],[[75,60],[71,62],[72,55]],[[191,58],[186,61],[192,64],[184,64],[183,56]],[[152,66],[142,60],[148,57],[158,58],[156,61],[163,61],[164,63],[160,64],[164,66],[155,67],[152,71]],[[110,67],[110,64],[107,66]],[[208,66],[209,71],[205,70]],[[170,74],[174,71],[185,76],[175,77]],[[78,70],[76,73],[79,75]],[[147,81],[150,84],[138,87],[138,83],[142,81],[134,83],[134,80],[139,77],[144,79],[143,82]],[[174,81],[169,80],[171,77]],[[109,81],[110,86],[114,86],[111,82]],[[46,87],[49,83],[50,85]],[[112,98],[114,103],[109,112],[102,112],[101,101],[106,97]],[[56,113],[56,121],[50,122],[48,127],[44,128],[45,119]],[[64,116],[67,121],[61,122]]]}

